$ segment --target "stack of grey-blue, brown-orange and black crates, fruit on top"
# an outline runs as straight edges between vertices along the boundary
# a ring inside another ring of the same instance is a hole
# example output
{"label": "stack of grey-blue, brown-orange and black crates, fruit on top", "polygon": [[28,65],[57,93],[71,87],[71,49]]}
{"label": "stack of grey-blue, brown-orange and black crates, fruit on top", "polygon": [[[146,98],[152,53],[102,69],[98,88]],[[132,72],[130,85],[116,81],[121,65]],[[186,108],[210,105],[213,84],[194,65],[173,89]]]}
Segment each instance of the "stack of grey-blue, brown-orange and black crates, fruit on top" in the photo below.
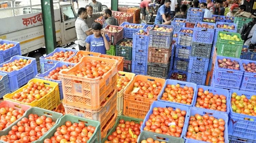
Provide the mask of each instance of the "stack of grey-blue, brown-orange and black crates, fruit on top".
{"label": "stack of grey-blue, brown-orange and black crates, fruit on top", "polygon": [[172,25],[154,24],[149,31],[149,47],[147,56],[148,76],[166,79],[169,73],[172,55]]}

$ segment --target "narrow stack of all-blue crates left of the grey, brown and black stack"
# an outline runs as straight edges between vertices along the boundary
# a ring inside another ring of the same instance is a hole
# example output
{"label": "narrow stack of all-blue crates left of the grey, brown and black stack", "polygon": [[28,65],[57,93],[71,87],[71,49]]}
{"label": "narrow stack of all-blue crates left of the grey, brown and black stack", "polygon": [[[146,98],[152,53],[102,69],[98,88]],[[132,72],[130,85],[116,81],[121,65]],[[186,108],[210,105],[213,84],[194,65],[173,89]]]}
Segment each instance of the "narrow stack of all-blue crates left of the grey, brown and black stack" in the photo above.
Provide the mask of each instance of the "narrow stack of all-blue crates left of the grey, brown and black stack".
{"label": "narrow stack of all-blue crates left of the grey, brown and black stack", "polygon": [[133,34],[131,71],[136,75],[147,74],[148,33],[148,29],[139,29],[138,32]]}

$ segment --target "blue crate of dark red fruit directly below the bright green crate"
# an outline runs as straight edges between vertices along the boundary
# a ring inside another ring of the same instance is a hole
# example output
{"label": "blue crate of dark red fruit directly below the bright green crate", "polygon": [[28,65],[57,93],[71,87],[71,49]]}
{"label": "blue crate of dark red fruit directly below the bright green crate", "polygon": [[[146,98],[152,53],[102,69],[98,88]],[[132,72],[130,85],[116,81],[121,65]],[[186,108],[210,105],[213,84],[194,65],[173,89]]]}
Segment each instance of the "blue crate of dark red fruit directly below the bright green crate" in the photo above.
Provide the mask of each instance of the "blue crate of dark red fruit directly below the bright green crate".
{"label": "blue crate of dark red fruit directly below the bright green crate", "polygon": [[218,67],[218,59],[231,59],[241,62],[239,58],[232,58],[232,57],[223,57],[223,56],[217,56],[215,61],[215,69],[214,69],[214,85],[226,87],[226,88],[234,88],[239,89],[241,82],[242,82],[242,76],[243,76],[243,70],[240,66],[240,70],[233,70],[233,69],[225,69],[225,68],[219,68]]}

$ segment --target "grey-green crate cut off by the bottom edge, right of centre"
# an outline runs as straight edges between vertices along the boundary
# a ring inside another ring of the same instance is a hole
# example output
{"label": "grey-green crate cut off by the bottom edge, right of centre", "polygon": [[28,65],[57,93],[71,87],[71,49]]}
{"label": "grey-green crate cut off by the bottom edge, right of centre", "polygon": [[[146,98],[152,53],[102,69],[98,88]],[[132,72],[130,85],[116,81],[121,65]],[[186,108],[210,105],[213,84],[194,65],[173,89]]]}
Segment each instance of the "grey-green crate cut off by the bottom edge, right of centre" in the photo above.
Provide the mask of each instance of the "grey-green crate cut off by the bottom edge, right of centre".
{"label": "grey-green crate cut off by the bottom edge, right of centre", "polygon": [[[150,131],[142,131],[138,137],[137,142],[140,143],[142,140],[146,140],[147,138],[152,138],[153,140],[157,140],[159,142],[164,141],[166,143],[184,143],[184,139],[177,138],[173,136],[167,136],[159,133],[154,133]],[[163,139],[159,139],[163,138]]]}

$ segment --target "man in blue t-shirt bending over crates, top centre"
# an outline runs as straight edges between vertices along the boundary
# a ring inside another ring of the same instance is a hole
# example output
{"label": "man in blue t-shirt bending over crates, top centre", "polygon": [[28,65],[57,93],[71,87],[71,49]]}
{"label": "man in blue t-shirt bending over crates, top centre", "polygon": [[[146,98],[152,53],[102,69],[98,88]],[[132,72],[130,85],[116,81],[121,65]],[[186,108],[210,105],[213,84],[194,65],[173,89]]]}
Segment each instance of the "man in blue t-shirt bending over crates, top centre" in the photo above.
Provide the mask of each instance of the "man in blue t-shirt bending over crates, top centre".
{"label": "man in blue t-shirt bending over crates, top centre", "polygon": [[170,0],[165,0],[165,4],[160,6],[157,11],[156,19],[155,19],[155,24],[162,24],[163,22],[167,22],[167,17],[170,16],[171,13],[171,1]]}

